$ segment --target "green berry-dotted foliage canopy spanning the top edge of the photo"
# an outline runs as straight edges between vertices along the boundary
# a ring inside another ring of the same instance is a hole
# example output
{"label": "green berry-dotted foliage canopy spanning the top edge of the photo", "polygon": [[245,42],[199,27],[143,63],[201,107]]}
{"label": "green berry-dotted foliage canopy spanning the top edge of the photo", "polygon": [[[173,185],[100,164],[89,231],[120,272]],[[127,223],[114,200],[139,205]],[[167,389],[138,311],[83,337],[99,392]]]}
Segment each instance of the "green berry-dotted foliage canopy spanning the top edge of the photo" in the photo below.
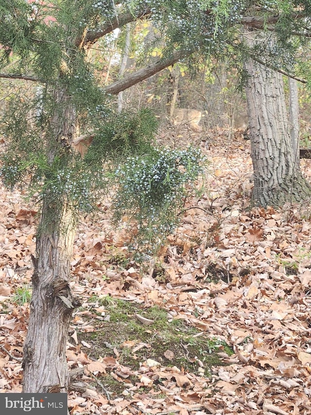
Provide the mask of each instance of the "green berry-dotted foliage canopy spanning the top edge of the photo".
{"label": "green berry-dotted foliage canopy spanning the top edge of the photo", "polygon": [[291,72],[294,52],[308,40],[311,29],[310,2],[290,0],[4,0],[0,19],[2,76],[19,74],[44,82],[55,81],[66,68],[83,76],[86,69],[80,58],[85,58],[86,49],[114,29],[139,19],[152,21],[155,39],[149,50],[160,43],[162,62],[170,59],[168,64],[172,64],[187,58],[194,64],[202,55],[213,55],[231,58],[234,64],[239,55],[249,52],[241,38],[241,30],[247,26],[276,39],[274,48],[269,41],[255,45],[253,57]]}

